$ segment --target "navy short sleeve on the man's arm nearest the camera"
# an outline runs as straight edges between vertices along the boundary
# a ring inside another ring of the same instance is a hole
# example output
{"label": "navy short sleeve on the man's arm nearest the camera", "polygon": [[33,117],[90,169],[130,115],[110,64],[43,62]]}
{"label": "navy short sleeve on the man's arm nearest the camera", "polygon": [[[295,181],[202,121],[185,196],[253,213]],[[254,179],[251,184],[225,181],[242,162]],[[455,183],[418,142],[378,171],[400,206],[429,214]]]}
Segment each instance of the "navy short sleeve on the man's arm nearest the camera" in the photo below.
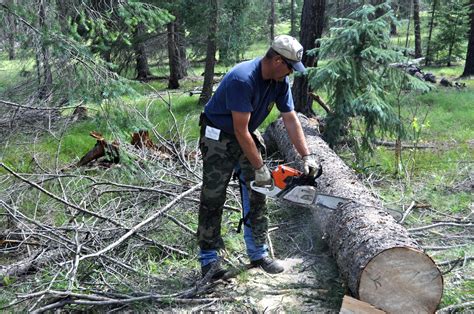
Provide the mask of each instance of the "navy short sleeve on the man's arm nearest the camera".
{"label": "navy short sleeve on the man's arm nearest the camera", "polygon": [[252,112],[252,89],[244,81],[231,79],[226,86],[226,106],[230,111]]}

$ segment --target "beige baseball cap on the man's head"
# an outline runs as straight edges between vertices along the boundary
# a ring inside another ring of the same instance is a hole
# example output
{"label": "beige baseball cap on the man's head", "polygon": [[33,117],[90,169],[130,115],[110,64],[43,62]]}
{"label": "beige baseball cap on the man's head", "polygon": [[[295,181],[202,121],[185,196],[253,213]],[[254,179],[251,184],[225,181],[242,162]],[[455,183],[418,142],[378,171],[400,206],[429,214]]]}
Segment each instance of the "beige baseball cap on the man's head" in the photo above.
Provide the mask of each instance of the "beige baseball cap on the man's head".
{"label": "beige baseball cap on the man's head", "polygon": [[288,61],[293,70],[298,72],[306,71],[303,63],[301,63],[301,58],[303,58],[303,46],[301,46],[296,38],[288,35],[277,36],[273,40],[271,47]]}

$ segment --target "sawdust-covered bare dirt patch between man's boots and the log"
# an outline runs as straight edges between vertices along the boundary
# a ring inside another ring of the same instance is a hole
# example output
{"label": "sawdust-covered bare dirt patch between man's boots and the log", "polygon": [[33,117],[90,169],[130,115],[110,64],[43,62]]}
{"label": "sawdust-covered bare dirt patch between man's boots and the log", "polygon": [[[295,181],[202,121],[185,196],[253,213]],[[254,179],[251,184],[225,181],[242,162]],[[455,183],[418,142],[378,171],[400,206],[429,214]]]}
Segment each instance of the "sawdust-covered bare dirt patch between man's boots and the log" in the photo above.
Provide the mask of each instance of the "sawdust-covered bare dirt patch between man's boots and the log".
{"label": "sawdust-covered bare dirt patch between man's boots and the log", "polygon": [[276,222],[270,233],[273,249],[285,271],[269,275],[259,268],[245,270],[203,296],[230,297],[235,302],[216,302],[198,308],[259,313],[338,313],[345,289],[336,262],[314,228],[311,213],[275,204],[271,207],[272,221]]}

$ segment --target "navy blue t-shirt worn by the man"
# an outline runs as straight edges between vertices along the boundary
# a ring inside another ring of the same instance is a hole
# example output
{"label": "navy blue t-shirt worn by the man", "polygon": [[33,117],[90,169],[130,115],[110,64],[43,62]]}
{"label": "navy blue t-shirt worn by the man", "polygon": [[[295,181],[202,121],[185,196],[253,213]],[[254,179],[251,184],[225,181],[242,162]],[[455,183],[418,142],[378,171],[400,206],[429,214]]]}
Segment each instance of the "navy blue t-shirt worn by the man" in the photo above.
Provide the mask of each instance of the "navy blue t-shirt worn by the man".
{"label": "navy blue t-shirt worn by the man", "polygon": [[232,111],[251,112],[249,131],[255,131],[276,104],[280,112],[294,109],[288,77],[282,82],[262,78],[261,58],[237,64],[222,79],[206,104],[207,118],[219,129],[234,134]]}

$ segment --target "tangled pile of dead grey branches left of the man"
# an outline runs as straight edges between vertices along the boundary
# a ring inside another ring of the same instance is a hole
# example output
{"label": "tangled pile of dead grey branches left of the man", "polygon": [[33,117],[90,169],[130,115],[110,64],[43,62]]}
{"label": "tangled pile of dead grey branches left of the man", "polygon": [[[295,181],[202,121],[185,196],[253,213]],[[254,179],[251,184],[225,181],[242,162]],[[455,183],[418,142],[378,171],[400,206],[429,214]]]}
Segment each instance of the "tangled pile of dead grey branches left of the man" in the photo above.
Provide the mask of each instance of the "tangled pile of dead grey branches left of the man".
{"label": "tangled pile of dead grey branches left of the man", "polygon": [[[30,171],[36,173],[19,173],[0,162],[0,223],[6,226],[0,231],[0,286],[22,291],[5,308],[215,302],[194,299],[205,283],[176,286],[196,277],[194,264],[169,262],[195,260],[201,186],[196,145],[156,134],[155,145],[145,131],[132,144],[91,135],[96,146],[75,163],[80,167],[50,169],[35,160]],[[164,145],[166,154],[159,148]],[[119,163],[91,167],[107,155]]]}

